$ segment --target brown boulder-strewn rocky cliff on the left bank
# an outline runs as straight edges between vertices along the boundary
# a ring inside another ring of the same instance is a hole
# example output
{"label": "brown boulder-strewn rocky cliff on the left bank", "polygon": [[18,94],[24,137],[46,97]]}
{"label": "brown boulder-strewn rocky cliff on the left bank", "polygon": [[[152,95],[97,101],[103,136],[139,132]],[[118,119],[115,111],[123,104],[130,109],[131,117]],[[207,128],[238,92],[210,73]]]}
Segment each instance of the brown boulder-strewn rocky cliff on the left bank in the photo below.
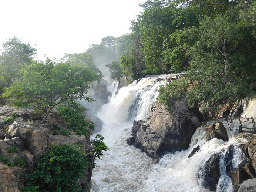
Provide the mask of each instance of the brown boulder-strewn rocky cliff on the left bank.
{"label": "brown boulder-strewn rocky cliff on the left bank", "polygon": [[[7,123],[6,119],[10,119],[11,114],[16,113],[19,116],[13,119],[13,123]],[[81,144],[82,152],[87,152],[91,166],[85,170],[84,178],[79,182],[84,191],[90,191],[91,174],[93,167],[93,148],[90,145],[88,134],[84,135],[54,135],[58,126],[67,129],[65,122],[58,113],[51,113],[45,124],[40,124],[43,119],[42,114],[34,114],[33,110],[0,107],[0,152],[1,156],[7,157],[8,162],[12,166],[8,166],[0,162],[0,191],[19,192],[22,188],[24,178],[36,164],[38,156],[47,150],[49,145],[61,145],[67,143]],[[17,146],[18,152],[10,152],[10,146]],[[26,158],[27,164],[25,168],[17,165],[17,159]],[[13,166],[14,165],[14,166]]]}

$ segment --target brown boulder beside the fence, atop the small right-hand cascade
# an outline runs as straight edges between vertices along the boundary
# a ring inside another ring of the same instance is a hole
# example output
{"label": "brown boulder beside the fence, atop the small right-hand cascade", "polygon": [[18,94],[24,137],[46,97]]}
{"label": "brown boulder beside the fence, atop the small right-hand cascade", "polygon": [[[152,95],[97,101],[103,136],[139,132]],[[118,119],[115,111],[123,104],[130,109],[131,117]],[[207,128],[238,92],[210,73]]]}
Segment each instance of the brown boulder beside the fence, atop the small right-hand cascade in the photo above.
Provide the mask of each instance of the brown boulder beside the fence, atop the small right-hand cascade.
{"label": "brown boulder beside the fence, atop the small right-hand cascade", "polygon": [[227,130],[221,122],[206,125],[205,131],[207,133],[206,141],[210,141],[213,138],[222,139],[223,141],[228,141],[229,139]]}

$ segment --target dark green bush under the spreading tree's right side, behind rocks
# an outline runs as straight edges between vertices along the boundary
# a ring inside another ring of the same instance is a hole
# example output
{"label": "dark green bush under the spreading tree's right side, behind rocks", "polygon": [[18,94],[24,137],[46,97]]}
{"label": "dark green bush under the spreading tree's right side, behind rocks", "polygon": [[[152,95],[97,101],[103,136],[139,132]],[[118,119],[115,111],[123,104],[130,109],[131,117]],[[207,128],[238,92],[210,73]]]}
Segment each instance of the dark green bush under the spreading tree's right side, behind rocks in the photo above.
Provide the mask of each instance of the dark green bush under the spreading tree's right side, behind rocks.
{"label": "dark green bush under the spreading tree's right side, behind rocks", "polygon": [[91,121],[87,121],[82,114],[86,108],[74,100],[67,100],[63,105],[56,107],[67,128],[77,132],[79,135],[87,135],[88,132],[94,130],[95,125]]}

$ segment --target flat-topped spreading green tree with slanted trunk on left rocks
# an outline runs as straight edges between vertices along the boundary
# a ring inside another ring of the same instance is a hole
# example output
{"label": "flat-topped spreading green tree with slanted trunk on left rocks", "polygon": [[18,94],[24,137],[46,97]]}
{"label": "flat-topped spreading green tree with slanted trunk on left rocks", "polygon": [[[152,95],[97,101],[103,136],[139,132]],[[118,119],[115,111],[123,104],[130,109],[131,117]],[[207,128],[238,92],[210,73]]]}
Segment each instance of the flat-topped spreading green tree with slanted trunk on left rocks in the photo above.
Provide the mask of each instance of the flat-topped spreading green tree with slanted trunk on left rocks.
{"label": "flat-topped spreading green tree with slanted trunk on left rocks", "polygon": [[15,98],[14,106],[33,106],[43,111],[42,122],[55,105],[68,99],[81,99],[92,102],[86,95],[88,82],[99,80],[95,71],[88,67],[70,65],[69,63],[54,64],[51,60],[44,63],[26,65],[21,80],[17,80],[10,88],[5,88],[2,95]]}

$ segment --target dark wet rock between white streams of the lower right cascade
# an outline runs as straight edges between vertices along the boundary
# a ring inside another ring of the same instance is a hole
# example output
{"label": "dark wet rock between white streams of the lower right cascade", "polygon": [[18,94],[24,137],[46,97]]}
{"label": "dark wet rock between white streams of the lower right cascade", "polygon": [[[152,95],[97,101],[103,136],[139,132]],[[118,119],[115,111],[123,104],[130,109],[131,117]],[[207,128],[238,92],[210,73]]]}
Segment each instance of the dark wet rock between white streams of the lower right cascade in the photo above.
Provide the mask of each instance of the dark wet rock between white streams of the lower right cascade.
{"label": "dark wet rock between white streams of the lower right cascade", "polygon": [[203,180],[203,187],[209,189],[210,191],[216,190],[216,186],[220,178],[219,161],[219,154],[213,154],[206,162],[205,169],[203,170],[201,176],[201,179]]}

